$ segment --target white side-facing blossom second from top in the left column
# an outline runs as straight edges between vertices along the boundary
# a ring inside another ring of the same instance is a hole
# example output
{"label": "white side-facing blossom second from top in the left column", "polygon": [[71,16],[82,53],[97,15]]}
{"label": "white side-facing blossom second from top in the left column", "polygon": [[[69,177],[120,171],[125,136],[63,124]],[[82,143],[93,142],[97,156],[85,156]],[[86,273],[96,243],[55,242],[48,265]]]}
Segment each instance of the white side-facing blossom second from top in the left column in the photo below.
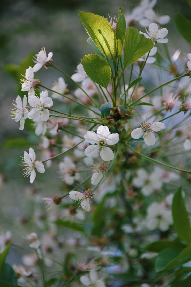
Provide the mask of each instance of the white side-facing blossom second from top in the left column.
{"label": "white side-facing blossom second from top in the left column", "polygon": [[40,83],[40,81],[34,79],[33,69],[31,67],[26,69],[25,76],[23,76],[23,77],[24,77],[24,79],[21,79],[21,82],[22,82],[21,91],[22,92],[28,91],[28,96],[34,96],[34,94],[35,94],[34,88],[35,88],[36,84]]}

